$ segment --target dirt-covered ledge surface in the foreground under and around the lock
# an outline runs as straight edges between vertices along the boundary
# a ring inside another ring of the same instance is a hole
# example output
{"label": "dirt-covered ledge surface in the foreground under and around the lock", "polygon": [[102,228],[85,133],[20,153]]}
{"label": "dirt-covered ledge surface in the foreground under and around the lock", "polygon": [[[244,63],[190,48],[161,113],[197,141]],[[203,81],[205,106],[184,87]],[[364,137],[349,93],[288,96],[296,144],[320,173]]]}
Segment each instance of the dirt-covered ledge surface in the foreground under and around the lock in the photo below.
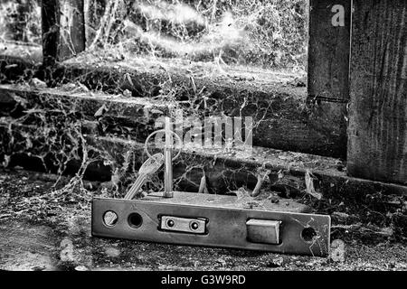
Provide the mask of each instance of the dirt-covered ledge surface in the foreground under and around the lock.
{"label": "dirt-covered ledge surface in the foreground under and around the lock", "polygon": [[[90,236],[91,194],[57,194],[52,175],[0,175],[5,270],[406,270],[405,244],[345,244],[345,259],[185,247]],[[68,182],[60,181],[57,188]],[[91,183],[85,183],[91,190]],[[52,192],[53,191],[53,192]],[[93,193],[98,193],[94,191]]]}

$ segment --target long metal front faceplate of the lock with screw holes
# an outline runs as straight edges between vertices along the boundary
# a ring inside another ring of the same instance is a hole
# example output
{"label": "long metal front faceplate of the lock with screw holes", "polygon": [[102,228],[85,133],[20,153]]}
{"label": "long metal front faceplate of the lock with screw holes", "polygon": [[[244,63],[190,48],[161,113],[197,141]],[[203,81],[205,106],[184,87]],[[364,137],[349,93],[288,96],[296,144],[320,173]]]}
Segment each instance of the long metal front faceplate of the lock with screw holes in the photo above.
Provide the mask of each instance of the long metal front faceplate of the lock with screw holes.
{"label": "long metal front faceplate of the lock with screw holes", "polygon": [[[180,192],[175,192],[175,196],[177,194]],[[199,198],[213,198],[213,195],[199,195]],[[107,226],[103,221],[107,211],[118,215],[113,226]],[[175,227],[174,224],[168,228],[167,221],[170,219],[182,221],[181,227]],[[259,222],[250,222],[251,219],[263,221],[265,227],[261,228]],[[197,233],[189,231],[192,221],[198,222],[198,227],[194,226]],[[261,238],[269,236],[268,233],[260,233],[259,237],[256,232],[251,233],[251,228],[248,227],[258,226],[261,232],[262,229],[274,229],[271,226],[273,222],[279,223],[278,244],[272,244],[275,243],[272,238],[272,242],[267,239],[263,242]],[[159,198],[154,201],[94,198],[92,201],[92,235],[97,237],[327,256],[329,234],[330,217],[324,215],[185,205],[174,200],[160,201]],[[253,236],[257,238],[253,239]]]}

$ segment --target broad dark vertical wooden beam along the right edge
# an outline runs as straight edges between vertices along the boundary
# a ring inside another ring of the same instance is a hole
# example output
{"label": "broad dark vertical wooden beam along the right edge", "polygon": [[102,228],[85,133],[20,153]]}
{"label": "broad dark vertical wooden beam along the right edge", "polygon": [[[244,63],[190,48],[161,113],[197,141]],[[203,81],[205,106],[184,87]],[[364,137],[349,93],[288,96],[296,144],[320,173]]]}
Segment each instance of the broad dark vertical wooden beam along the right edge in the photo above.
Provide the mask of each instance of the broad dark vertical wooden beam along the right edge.
{"label": "broad dark vertical wooden beam along the right edge", "polygon": [[347,171],[407,184],[407,1],[354,9]]}

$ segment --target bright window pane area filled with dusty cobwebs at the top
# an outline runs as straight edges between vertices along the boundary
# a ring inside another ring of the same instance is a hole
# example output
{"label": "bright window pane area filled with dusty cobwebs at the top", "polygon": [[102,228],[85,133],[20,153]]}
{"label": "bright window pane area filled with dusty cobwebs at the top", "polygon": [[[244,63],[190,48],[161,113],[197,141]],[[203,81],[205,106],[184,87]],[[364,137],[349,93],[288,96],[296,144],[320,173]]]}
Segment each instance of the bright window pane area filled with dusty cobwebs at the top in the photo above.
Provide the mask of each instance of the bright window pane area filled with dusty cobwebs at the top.
{"label": "bright window pane area filled with dusty cobwebs at the top", "polygon": [[92,1],[90,50],[303,70],[307,2]]}

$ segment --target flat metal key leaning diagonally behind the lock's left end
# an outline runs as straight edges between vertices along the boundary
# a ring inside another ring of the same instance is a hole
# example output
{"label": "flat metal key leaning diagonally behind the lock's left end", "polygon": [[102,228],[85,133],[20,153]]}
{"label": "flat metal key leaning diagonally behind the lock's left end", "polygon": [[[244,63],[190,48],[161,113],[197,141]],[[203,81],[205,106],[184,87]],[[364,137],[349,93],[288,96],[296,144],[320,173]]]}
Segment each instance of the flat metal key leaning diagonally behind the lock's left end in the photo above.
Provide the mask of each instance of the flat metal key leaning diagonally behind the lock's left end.
{"label": "flat metal key leaning diagonally behind the lock's left end", "polygon": [[159,170],[164,163],[164,154],[154,154],[152,157],[143,163],[138,170],[138,177],[136,182],[131,186],[130,190],[124,197],[125,200],[132,200],[141,187],[147,181],[148,177]]}

